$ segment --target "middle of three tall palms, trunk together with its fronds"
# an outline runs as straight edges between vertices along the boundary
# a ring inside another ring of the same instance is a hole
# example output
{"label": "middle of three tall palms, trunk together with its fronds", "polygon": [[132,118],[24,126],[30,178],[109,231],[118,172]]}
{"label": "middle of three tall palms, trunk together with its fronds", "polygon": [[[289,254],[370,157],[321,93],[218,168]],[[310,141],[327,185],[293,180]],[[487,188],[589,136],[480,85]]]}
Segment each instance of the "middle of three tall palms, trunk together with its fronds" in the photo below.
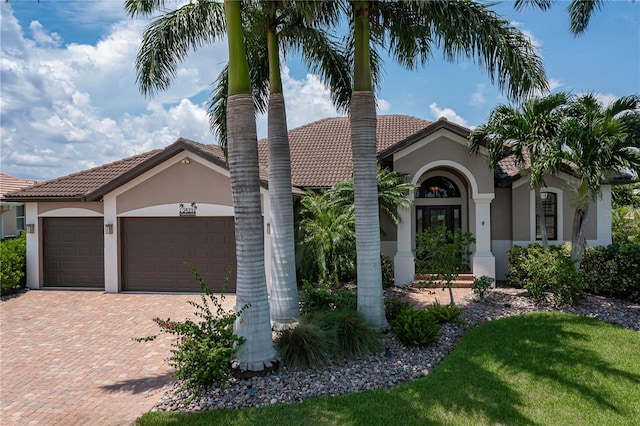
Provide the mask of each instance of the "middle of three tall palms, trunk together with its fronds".
{"label": "middle of three tall palms, trunk together with its fronds", "polygon": [[[346,59],[319,29],[337,16],[332,2],[258,2],[246,10],[245,34],[254,101],[268,110],[269,198],[271,201],[271,321],[276,329],[299,315],[295,268],[291,159],[282,93],[280,53],[302,52],[305,61],[332,87],[334,103],[346,109],[350,81]],[[210,103],[212,128],[226,141],[228,69],[218,77]],[[268,92],[268,93],[267,93]]]}

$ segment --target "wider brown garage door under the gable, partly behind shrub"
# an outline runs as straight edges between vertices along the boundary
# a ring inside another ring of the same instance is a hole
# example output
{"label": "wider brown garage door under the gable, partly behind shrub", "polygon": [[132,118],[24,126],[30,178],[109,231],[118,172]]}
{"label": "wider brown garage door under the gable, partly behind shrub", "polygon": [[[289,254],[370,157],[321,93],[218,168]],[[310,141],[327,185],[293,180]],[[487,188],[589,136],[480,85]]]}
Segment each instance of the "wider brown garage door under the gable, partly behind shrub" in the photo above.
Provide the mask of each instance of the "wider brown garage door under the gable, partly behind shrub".
{"label": "wider brown garage door under the gable, partly behind shrub", "polygon": [[122,290],[196,291],[192,263],[212,291],[236,288],[233,217],[123,218]]}

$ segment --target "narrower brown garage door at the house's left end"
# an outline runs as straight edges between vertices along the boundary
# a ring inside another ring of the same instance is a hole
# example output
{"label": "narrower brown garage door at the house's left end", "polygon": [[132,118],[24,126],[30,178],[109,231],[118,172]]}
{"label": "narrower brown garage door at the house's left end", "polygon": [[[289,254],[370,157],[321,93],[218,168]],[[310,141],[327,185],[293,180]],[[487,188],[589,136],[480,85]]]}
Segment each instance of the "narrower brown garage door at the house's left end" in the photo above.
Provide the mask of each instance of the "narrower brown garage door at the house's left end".
{"label": "narrower brown garage door at the house's left end", "polygon": [[42,219],[45,287],[104,288],[101,217]]}

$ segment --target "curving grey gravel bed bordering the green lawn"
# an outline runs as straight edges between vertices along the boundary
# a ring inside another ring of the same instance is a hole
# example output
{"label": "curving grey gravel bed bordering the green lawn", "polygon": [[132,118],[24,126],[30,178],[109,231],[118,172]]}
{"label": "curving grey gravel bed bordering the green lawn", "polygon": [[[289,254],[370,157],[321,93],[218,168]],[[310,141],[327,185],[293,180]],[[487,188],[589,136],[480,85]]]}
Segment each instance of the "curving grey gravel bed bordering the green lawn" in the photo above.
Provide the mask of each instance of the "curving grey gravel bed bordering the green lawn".
{"label": "curving grey gravel bed bordering the green lawn", "polygon": [[[398,296],[403,291],[405,290],[396,288],[388,294]],[[555,308],[536,306],[526,294],[525,290],[499,288],[489,293],[484,301],[479,301],[470,294],[458,301],[457,306],[465,308],[460,318],[471,325],[443,324],[438,342],[430,347],[405,347],[389,333],[385,336],[388,351],[381,354],[335,363],[319,370],[281,368],[279,372],[264,377],[232,379],[225,390],[211,387],[191,402],[187,402],[192,397],[191,393],[180,391],[179,384],[176,383],[152,411],[263,407],[298,402],[314,396],[392,388],[429,374],[471,327],[485,321],[533,311],[568,312],[640,331],[639,304],[589,295],[580,306]]]}

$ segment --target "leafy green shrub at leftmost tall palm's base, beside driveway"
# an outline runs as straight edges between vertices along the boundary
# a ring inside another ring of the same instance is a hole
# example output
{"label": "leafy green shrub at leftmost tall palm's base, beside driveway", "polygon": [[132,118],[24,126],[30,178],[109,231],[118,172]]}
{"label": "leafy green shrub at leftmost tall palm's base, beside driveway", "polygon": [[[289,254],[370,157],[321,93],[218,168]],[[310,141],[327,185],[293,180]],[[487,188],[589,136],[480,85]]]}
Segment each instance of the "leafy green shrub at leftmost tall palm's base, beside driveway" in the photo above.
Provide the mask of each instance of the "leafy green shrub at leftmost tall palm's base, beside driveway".
{"label": "leafy green shrub at leftmost tall palm's base, beside driveway", "polygon": [[[204,292],[200,296],[201,303],[187,301],[195,308],[198,320],[173,321],[170,318],[163,320],[156,317],[153,321],[158,324],[161,332],[176,336],[169,365],[175,368],[173,374],[176,379],[183,381],[183,387],[191,389],[194,396],[198,396],[203,388],[212,384],[219,383],[224,387],[231,377],[233,360],[240,345],[245,342],[243,337],[234,333],[233,324],[249,305],[238,312],[225,312],[222,307],[224,294],[216,297],[194,266],[189,267]],[[209,307],[207,297],[213,304],[214,311]],[[150,341],[156,337],[135,340]]]}

